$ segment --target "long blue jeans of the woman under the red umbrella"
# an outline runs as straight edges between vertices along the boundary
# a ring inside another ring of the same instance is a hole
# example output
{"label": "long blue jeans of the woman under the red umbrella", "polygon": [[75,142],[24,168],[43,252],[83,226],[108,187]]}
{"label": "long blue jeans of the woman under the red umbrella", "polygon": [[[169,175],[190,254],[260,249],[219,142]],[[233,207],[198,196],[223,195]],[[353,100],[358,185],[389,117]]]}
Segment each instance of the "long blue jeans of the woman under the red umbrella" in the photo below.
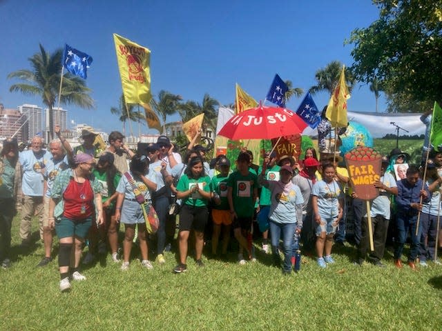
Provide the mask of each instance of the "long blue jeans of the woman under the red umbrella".
{"label": "long blue jeans of the woman under the red umbrella", "polygon": [[270,240],[271,251],[273,252],[273,259],[279,260],[279,241],[281,239],[282,232],[282,252],[284,252],[284,265],[282,270],[285,272],[291,272],[291,255],[294,245],[294,233],[296,229],[296,223],[276,223],[270,220]]}

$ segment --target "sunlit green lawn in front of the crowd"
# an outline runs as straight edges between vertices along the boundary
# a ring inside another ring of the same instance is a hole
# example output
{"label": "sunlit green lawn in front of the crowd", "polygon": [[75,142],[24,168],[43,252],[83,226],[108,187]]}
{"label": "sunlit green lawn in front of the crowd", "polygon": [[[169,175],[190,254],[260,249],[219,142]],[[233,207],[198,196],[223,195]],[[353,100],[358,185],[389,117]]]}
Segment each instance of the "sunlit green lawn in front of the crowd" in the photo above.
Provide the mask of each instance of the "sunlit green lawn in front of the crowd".
{"label": "sunlit green lawn in front of the crowd", "polygon": [[13,261],[0,270],[0,330],[440,330],[442,267],[397,270],[351,263],[354,248],[336,248],[336,263],[320,270],[303,257],[298,274],[283,276],[269,255],[238,265],[207,260],[173,274],[175,257],[127,272],[110,256],[86,268],[88,279],[59,292],[57,259],[44,268],[40,243],[29,254],[13,228]]}

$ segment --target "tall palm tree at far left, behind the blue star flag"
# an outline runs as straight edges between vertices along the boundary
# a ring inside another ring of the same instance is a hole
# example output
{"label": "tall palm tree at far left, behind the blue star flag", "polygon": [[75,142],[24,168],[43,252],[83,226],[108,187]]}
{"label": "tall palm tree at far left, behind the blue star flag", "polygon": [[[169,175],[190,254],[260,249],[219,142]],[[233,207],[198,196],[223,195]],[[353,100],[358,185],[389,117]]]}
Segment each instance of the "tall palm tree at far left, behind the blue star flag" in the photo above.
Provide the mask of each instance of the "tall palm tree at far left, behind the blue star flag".
{"label": "tall palm tree at far left, behind the blue star flag", "polygon": [[[59,94],[63,50],[60,48],[48,54],[41,44],[39,47],[40,52],[28,59],[31,70],[21,69],[8,74],[8,79],[18,78],[27,83],[13,84],[9,90],[42,97],[43,103],[48,106],[50,137],[53,137],[52,108]],[[94,101],[89,94],[90,89],[86,87],[84,79],[70,73],[64,74],[59,103],[90,109],[93,108]]]}

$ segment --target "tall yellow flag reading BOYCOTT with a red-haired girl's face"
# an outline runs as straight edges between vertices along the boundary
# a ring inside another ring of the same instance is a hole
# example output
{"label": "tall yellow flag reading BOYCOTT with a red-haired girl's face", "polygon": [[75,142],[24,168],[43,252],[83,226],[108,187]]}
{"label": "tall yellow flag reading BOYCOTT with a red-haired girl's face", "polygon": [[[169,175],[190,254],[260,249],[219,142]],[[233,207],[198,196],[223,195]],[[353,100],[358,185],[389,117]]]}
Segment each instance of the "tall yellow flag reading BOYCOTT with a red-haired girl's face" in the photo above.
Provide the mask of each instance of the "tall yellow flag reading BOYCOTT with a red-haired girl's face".
{"label": "tall yellow flag reading BOYCOTT with a red-haired girl's face", "polygon": [[113,34],[115,52],[126,103],[151,101],[151,51],[118,34]]}

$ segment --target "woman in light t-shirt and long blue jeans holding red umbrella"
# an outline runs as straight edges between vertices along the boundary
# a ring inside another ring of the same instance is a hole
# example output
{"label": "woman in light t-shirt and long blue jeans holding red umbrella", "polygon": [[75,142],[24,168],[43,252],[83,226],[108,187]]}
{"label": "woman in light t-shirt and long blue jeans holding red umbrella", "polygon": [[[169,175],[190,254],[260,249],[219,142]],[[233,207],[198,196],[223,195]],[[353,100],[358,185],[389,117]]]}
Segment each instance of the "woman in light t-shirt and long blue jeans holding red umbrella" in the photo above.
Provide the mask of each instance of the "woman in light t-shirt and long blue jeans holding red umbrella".
{"label": "woman in light t-shirt and long blue jeans holding red umbrella", "polygon": [[270,237],[273,263],[280,266],[279,241],[282,239],[284,263],[282,272],[291,273],[291,257],[293,255],[294,236],[302,229],[302,203],[304,199],[298,185],[291,182],[293,170],[289,165],[283,165],[278,181],[268,181],[264,178],[267,164],[262,163],[258,183],[271,191]]}

